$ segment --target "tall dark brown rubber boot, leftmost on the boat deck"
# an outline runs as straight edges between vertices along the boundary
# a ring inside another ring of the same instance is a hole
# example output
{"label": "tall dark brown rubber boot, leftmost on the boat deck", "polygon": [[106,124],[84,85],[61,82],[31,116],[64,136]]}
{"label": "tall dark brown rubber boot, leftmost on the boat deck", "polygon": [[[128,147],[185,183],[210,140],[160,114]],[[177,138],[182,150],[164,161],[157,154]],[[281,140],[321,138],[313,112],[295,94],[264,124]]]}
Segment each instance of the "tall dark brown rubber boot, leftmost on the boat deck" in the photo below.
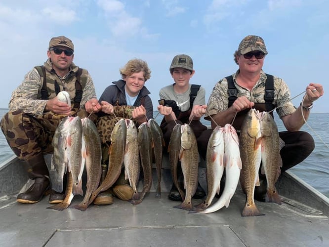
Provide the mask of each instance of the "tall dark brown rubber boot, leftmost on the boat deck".
{"label": "tall dark brown rubber boot, leftmost on the boat deck", "polygon": [[18,194],[17,202],[23,204],[38,203],[50,187],[49,171],[45,164],[43,154],[38,154],[26,161],[26,168],[30,179],[34,184],[25,192]]}

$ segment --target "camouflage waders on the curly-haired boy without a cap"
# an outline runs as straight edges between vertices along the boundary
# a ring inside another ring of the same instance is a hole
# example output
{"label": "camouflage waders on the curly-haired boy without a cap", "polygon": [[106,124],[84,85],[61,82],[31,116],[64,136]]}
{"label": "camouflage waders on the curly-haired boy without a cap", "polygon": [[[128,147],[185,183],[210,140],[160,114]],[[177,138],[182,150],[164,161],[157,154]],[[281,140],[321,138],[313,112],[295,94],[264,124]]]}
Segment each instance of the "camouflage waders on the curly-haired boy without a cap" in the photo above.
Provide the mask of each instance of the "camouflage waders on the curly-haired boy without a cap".
{"label": "camouflage waders on the curly-haired boy without a cap", "polygon": [[[114,106],[114,114],[105,115],[98,118],[96,126],[102,144],[110,144],[111,133],[114,125],[120,119],[131,119],[133,109],[135,109],[135,106]],[[134,124],[137,125],[137,121],[134,121]]]}

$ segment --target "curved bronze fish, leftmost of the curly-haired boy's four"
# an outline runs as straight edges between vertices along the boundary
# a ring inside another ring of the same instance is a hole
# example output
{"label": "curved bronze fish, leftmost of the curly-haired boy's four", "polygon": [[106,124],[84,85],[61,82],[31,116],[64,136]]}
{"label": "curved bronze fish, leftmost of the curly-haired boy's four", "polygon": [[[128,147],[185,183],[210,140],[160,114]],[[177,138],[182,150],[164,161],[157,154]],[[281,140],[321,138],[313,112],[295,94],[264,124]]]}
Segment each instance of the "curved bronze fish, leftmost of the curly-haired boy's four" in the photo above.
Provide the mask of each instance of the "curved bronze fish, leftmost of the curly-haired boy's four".
{"label": "curved bronze fish, leftmost of the curly-haired boy's four", "polygon": [[119,120],[111,133],[111,145],[109,148],[109,167],[105,179],[100,186],[92,193],[88,205],[90,205],[100,192],[109,189],[119,178],[123,157],[125,152],[125,141],[127,136],[127,127],[125,120]]}

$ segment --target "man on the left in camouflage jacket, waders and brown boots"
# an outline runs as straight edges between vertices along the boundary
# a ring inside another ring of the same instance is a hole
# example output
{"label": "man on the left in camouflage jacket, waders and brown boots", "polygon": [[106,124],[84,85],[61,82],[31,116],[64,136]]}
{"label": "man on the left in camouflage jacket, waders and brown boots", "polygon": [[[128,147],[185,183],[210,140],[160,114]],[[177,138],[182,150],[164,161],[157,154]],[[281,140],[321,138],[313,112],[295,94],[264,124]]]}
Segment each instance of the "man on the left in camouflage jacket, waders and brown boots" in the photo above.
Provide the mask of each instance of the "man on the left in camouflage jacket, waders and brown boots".
{"label": "man on the left in camouflage jacket, waders and brown boots", "polygon": [[[49,171],[43,154],[51,153],[51,141],[59,122],[66,116],[85,117],[98,112],[93,81],[87,70],[73,63],[74,45],[65,36],[49,41],[48,60],[36,66],[13,91],[9,112],[1,119],[1,130],[15,155],[25,161],[34,184],[17,196],[23,204],[38,203],[50,189]],[[67,91],[71,104],[57,98]],[[51,191],[49,203],[60,203],[64,192]]]}

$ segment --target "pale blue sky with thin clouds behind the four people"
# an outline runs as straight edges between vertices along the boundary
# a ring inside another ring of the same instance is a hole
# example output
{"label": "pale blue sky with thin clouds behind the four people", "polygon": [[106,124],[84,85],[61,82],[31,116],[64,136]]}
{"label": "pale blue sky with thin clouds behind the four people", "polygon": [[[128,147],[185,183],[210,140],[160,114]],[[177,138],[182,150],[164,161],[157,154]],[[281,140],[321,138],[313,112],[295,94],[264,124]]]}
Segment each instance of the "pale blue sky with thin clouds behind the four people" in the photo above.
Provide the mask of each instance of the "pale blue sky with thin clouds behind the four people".
{"label": "pale blue sky with thin clouds behind the four people", "polygon": [[[263,69],[284,79],[292,97],[310,82],[326,91],[328,9],[327,0],[1,0],[0,108],[60,35],[74,42],[74,62],[89,71],[98,97],[139,58],[152,71],[145,85],[156,108],[159,90],[173,82],[171,59],[185,53],[196,71],[190,82],[206,88],[207,101],[214,84],[237,70],[233,53],[250,34],[265,40]],[[329,112],[328,103],[327,92],[312,111]]]}

